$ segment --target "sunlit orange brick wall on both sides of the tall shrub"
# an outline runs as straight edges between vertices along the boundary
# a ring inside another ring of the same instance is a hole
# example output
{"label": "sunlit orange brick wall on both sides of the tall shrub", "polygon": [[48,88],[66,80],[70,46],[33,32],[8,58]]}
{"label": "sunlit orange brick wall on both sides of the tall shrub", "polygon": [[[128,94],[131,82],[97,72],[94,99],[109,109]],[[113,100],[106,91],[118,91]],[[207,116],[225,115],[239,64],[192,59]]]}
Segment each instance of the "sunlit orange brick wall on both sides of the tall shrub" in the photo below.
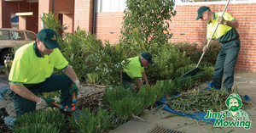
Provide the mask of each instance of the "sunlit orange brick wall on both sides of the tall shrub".
{"label": "sunlit orange brick wall on both sides of the tall shrub", "polygon": [[[213,12],[221,12],[226,2],[212,3],[185,3],[176,5],[177,14],[171,18],[171,42],[195,42],[207,43],[207,23],[195,20],[197,9],[201,6],[208,6]],[[240,26],[237,28],[240,34],[241,51],[238,56],[236,70],[256,71],[256,3],[252,2],[230,2],[227,12],[235,17]],[[97,13],[96,15],[96,36],[102,40],[109,40],[111,43],[119,42],[119,29],[122,25],[123,13]],[[109,34],[113,32],[113,34]],[[185,35],[184,35],[184,34]]]}

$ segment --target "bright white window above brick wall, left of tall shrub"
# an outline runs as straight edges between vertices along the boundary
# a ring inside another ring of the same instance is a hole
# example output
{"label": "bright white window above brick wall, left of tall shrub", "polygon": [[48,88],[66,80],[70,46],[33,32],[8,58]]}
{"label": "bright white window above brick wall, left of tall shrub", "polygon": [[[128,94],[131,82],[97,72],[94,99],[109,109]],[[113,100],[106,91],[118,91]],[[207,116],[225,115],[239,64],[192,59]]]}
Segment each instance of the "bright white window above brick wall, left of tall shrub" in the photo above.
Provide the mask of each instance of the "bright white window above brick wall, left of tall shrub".
{"label": "bright white window above brick wall, left of tall shrub", "polygon": [[97,0],[97,12],[123,12],[126,0]]}

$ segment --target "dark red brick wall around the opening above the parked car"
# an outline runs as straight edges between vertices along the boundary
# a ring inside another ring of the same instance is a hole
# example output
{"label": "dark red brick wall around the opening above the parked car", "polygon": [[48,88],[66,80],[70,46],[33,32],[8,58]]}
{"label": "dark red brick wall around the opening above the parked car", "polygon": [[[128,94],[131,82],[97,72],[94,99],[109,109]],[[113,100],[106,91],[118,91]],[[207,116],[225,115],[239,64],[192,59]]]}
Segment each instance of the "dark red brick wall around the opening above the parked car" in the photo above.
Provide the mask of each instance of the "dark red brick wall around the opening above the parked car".
{"label": "dark red brick wall around the opening above the parked car", "polygon": [[2,28],[11,28],[11,14],[33,12],[26,16],[26,30],[38,32],[38,3],[4,2],[2,1]]}

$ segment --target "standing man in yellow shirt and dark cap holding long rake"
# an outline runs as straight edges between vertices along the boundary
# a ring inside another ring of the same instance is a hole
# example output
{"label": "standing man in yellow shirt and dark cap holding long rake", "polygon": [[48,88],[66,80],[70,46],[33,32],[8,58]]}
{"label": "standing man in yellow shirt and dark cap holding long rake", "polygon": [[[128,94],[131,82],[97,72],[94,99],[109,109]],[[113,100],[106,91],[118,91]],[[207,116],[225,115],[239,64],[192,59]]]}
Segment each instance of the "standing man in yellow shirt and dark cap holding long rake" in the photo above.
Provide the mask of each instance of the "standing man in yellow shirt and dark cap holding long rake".
{"label": "standing man in yellow shirt and dark cap holding long rake", "polygon": [[[221,42],[217,62],[214,66],[212,86],[216,89],[221,89],[224,78],[223,88],[231,91],[234,84],[236,60],[240,51],[239,34],[236,31],[239,24],[229,13],[225,12],[221,17],[222,12],[214,13],[207,6],[201,6],[197,13],[196,19],[207,22],[207,39],[211,38],[216,25],[219,23],[218,29],[212,37],[212,39],[217,39],[218,42]],[[203,52],[206,52],[207,48],[207,46],[203,47]]]}

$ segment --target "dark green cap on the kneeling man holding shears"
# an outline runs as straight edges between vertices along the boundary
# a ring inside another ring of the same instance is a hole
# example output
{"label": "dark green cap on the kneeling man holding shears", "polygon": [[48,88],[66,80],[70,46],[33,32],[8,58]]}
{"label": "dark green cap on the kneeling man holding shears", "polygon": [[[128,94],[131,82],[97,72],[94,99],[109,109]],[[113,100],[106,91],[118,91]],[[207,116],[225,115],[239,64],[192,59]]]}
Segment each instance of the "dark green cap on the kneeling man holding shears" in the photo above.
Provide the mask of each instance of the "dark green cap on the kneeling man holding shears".
{"label": "dark green cap on the kneeling man holding shears", "polygon": [[54,49],[56,47],[60,47],[57,42],[57,33],[55,30],[51,30],[48,28],[42,29],[38,32],[38,40],[43,42],[46,47],[49,49]]}

